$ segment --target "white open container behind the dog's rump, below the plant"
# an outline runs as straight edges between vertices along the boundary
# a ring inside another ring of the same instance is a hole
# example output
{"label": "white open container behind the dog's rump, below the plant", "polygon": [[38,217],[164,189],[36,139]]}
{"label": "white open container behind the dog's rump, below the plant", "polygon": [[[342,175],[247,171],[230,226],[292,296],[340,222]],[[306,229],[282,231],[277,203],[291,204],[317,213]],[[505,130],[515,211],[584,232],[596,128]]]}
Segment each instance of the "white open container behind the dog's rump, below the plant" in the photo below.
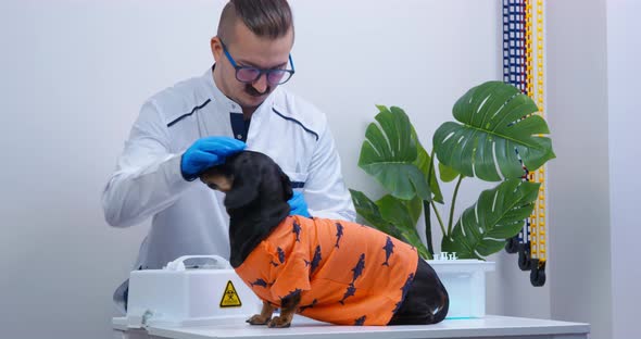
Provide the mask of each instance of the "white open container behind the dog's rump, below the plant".
{"label": "white open container behind the dog's rump, below the plant", "polygon": [[486,272],[494,271],[493,262],[480,260],[428,260],[450,296],[447,318],[486,315]]}

